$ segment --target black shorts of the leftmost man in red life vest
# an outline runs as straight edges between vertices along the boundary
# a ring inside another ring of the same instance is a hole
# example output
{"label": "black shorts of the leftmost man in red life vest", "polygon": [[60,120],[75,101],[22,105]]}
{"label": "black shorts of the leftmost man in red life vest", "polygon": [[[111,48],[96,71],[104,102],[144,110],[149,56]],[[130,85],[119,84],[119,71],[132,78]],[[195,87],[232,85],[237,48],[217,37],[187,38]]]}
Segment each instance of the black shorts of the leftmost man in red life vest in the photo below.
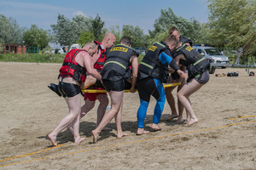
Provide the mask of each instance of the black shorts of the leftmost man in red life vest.
{"label": "black shorts of the leftmost man in red life vest", "polygon": [[81,89],[77,84],[67,83],[67,82],[59,82],[59,91],[62,96],[71,98],[75,95],[80,94]]}

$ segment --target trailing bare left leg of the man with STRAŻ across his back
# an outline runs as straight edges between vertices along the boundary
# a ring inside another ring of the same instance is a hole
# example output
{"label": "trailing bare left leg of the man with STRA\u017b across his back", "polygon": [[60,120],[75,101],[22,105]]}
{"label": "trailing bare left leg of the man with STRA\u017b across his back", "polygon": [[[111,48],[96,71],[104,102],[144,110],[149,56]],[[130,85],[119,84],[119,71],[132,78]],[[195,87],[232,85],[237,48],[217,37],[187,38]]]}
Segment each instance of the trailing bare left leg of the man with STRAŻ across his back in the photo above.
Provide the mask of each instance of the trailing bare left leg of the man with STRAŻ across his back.
{"label": "trailing bare left leg of the man with STRA\u017b across his back", "polygon": [[96,127],[95,130],[91,131],[93,135],[94,143],[97,142],[97,138],[99,134],[102,132],[102,128],[105,127],[113,119],[113,117],[118,113],[123,100],[124,91],[121,91],[121,92],[111,91],[109,95],[111,98],[111,109],[103,116],[102,122],[100,122],[98,127]]}

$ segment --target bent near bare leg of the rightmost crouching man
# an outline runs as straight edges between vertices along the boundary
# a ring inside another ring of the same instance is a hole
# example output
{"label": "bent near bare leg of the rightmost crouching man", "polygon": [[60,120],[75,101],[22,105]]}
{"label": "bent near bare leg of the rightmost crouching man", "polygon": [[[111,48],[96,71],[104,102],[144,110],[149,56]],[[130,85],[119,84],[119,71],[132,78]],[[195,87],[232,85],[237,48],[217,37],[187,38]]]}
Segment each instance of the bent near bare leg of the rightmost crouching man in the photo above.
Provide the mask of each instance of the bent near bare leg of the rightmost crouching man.
{"label": "bent near bare leg of the rightmost crouching man", "polygon": [[198,122],[198,119],[195,116],[195,112],[192,109],[192,106],[189,102],[188,95],[191,94],[191,92],[194,92],[201,88],[201,84],[196,82],[194,79],[185,84],[183,88],[177,93],[177,98],[180,100],[180,102],[183,104],[186,111],[188,111],[188,114],[190,116],[190,119],[187,120],[186,126],[190,126],[196,122]]}

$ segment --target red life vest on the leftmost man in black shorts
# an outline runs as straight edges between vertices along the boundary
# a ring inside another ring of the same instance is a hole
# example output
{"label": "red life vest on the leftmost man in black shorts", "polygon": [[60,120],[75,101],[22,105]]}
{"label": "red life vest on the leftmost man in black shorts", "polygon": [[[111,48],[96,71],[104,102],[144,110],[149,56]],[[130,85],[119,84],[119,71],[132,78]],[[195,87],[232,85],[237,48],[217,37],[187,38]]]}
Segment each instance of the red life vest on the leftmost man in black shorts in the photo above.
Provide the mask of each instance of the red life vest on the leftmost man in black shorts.
{"label": "red life vest on the leftmost man in black shorts", "polygon": [[[86,68],[79,65],[75,58],[83,49],[72,49],[67,53],[60,69],[59,77],[73,77],[78,82],[84,82],[86,78]],[[86,52],[86,51],[85,51]]]}

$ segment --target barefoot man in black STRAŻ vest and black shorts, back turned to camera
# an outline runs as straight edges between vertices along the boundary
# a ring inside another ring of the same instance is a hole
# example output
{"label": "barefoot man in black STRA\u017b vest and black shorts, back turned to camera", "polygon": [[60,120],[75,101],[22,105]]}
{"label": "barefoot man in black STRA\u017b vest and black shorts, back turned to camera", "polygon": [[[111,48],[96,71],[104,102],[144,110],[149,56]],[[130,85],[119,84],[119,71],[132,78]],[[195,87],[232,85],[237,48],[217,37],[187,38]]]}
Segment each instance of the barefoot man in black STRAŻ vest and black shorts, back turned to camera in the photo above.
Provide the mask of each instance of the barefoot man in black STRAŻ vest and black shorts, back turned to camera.
{"label": "barefoot man in black STRA\u017b vest and black shorts, back turned to camera", "polygon": [[[123,96],[125,90],[125,79],[131,77],[131,93],[135,93],[137,81],[137,57],[138,53],[131,48],[131,38],[122,37],[120,44],[108,48],[107,60],[102,68],[102,82],[108,90],[111,99],[111,109],[103,116],[102,122],[92,130],[93,142],[96,143],[99,134],[112,119],[115,118],[117,127],[117,138],[122,138],[124,133],[121,127]],[[130,69],[130,65],[132,69]],[[131,76],[132,70],[132,76]]]}

